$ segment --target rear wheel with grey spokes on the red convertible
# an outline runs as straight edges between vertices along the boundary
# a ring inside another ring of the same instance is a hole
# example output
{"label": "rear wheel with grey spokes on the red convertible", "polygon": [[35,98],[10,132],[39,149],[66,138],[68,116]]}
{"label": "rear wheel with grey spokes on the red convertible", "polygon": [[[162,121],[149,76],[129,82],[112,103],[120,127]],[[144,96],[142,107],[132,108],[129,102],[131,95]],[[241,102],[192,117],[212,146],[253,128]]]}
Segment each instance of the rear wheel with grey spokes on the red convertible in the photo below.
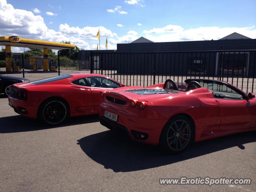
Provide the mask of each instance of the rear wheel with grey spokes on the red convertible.
{"label": "rear wheel with grey spokes on the red convertible", "polygon": [[164,153],[182,153],[194,139],[194,123],[184,115],[171,118],[160,135],[159,146]]}

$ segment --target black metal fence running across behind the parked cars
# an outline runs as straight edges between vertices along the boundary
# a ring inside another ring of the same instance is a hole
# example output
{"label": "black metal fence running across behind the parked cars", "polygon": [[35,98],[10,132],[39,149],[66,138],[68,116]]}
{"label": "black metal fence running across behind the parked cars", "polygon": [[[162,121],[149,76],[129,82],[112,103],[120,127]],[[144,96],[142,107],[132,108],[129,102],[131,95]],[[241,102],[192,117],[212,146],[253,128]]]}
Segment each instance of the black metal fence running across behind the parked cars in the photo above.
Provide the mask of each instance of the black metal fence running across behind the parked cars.
{"label": "black metal fence running across behind the parked cars", "polygon": [[[205,78],[229,82],[245,92],[256,92],[256,50],[94,51],[83,61],[49,58],[49,71],[42,70],[42,58],[36,58],[36,61],[38,70],[33,70],[28,58],[21,56],[18,61],[20,71],[6,72],[2,65],[0,74],[33,81],[62,74],[96,73],[109,76],[127,86],[149,86],[169,78],[179,84],[188,78]],[[14,66],[17,66],[16,60],[13,60]]]}

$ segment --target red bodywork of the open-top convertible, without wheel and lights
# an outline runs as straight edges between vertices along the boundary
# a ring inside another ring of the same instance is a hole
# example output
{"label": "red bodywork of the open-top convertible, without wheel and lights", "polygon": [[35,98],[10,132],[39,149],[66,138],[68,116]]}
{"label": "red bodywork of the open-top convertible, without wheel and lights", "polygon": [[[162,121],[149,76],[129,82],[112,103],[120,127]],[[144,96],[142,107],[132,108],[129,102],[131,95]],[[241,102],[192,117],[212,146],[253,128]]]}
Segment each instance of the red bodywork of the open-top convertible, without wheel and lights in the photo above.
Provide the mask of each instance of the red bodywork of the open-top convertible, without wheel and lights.
{"label": "red bodywork of the open-top convertible, without wheel and lights", "polygon": [[[164,84],[148,86],[162,89]],[[220,100],[214,98],[207,88],[197,88],[175,94],[140,95],[126,90],[141,87],[123,87],[106,92],[102,97],[99,114],[104,118],[108,111],[118,115],[117,124],[124,126],[133,140],[131,130],[148,134],[148,139],[138,140],[148,144],[158,144],[165,124],[176,114],[190,116],[195,125],[194,141],[206,140],[228,134],[256,130],[256,98],[249,100]],[[113,103],[106,97],[125,100],[125,105]],[[132,108],[132,100],[146,101],[146,108]]]}

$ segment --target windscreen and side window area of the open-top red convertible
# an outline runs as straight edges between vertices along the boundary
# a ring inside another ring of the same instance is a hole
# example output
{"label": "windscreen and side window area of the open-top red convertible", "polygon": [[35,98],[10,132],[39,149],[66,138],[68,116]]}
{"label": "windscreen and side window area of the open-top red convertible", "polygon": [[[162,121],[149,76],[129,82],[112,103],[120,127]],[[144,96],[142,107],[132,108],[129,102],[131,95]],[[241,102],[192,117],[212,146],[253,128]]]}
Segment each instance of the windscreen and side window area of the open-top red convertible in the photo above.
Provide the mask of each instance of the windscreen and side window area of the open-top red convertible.
{"label": "windscreen and side window area of the open-top red convertible", "polygon": [[222,99],[243,99],[243,96],[226,86],[225,84],[219,84],[216,82],[208,83],[208,82],[198,82],[202,87],[207,88],[214,94],[215,98]]}

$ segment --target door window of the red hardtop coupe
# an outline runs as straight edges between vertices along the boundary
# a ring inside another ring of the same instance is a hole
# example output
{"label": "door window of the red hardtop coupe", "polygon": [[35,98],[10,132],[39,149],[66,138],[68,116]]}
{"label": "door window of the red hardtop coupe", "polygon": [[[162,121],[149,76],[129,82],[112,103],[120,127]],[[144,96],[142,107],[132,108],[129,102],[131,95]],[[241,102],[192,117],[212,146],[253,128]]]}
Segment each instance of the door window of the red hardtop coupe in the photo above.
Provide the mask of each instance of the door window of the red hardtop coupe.
{"label": "door window of the red hardtop coupe", "polygon": [[92,87],[102,87],[102,88],[118,88],[121,87],[120,84],[110,80],[105,77],[87,77],[86,78]]}

